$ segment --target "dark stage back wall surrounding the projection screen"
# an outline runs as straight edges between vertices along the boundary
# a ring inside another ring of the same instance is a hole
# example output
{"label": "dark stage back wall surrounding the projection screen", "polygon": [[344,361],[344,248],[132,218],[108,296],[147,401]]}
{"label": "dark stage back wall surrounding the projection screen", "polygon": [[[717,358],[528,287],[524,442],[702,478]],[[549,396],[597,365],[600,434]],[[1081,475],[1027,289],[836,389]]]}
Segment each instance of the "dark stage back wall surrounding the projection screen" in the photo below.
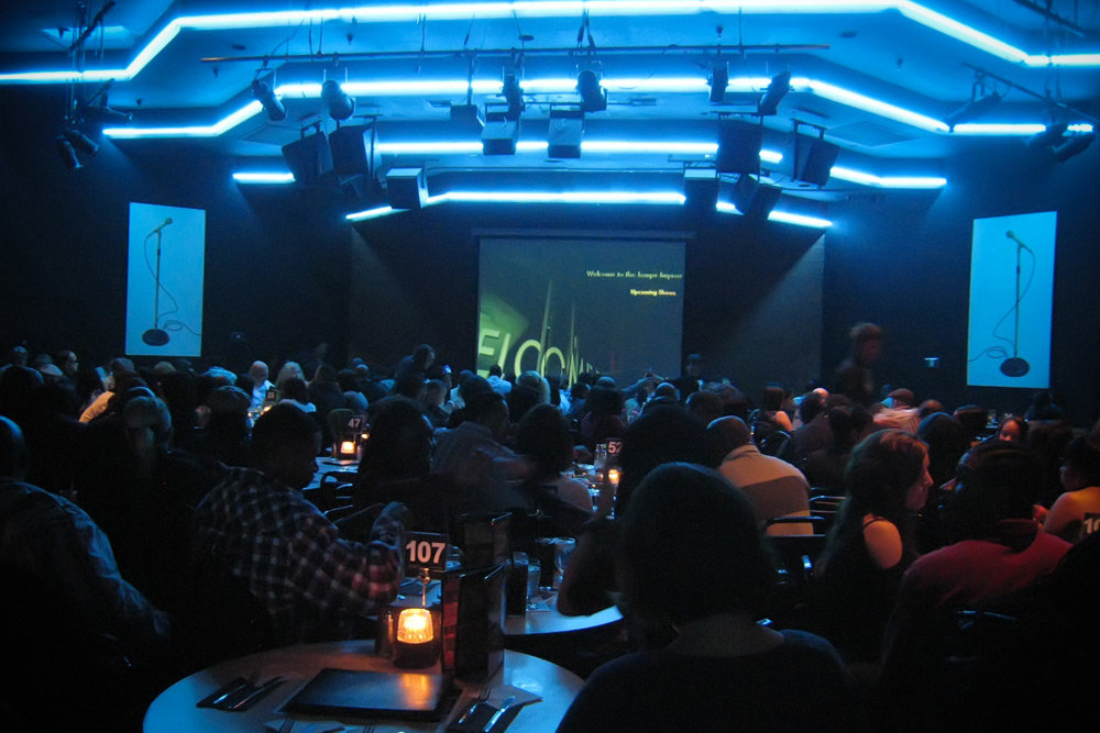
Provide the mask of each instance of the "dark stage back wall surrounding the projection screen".
{"label": "dark stage back wall surrounding the projection screen", "polygon": [[679,232],[688,242],[684,353],[702,353],[707,375],[754,393],[767,379],[799,388],[817,376],[820,249],[807,255],[817,230],[671,207],[448,203],[356,229],[349,348],[372,364],[428,342],[455,369],[473,368],[480,232]]}

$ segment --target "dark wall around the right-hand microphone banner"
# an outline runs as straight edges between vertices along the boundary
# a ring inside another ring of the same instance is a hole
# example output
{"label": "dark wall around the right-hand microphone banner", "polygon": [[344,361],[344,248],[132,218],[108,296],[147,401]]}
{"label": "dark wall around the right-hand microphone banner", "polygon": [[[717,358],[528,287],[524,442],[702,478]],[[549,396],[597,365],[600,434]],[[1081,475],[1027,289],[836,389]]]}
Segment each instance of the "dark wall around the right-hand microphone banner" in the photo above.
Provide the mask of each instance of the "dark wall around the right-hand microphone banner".
{"label": "dark wall around the right-hand microphone banner", "polygon": [[[938,196],[890,192],[834,206],[826,234],[824,363],[846,354],[847,330],[887,329],[881,377],[917,399],[1022,413],[1031,389],[966,386],[970,246],[975,219],[1058,212],[1052,388],[1075,424],[1100,415],[1100,151],[1064,164],[1002,142],[953,159]],[[939,369],[923,358],[941,357]]]}

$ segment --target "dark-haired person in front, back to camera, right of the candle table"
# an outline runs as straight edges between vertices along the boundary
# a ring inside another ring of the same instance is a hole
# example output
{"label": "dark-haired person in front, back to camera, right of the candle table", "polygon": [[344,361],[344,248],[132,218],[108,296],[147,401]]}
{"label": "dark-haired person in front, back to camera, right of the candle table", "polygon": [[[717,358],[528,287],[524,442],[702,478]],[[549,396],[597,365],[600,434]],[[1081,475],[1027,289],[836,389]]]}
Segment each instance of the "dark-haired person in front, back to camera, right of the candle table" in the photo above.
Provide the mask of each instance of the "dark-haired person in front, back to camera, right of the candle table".
{"label": "dark-haired person in front, back to camera, right of the candle table", "polygon": [[671,624],[675,640],[597,669],[560,732],[864,730],[828,642],[756,623],[773,570],[751,508],[717,474],[683,464],[650,474],[615,557],[626,612]]}

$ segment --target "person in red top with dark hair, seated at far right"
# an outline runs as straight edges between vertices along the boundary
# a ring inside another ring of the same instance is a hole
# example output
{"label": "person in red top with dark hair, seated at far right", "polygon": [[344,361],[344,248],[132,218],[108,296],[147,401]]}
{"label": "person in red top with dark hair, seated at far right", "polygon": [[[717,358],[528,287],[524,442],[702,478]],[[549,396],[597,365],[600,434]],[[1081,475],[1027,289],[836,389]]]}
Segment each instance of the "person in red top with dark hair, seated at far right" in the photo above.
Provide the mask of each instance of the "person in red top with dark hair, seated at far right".
{"label": "person in red top with dark hair, seated at far right", "polygon": [[1031,519],[1042,477],[1042,460],[1018,443],[979,445],[959,463],[948,507],[957,542],[913,563],[890,617],[880,687],[883,726],[952,725],[954,717],[942,713],[954,692],[943,667],[954,611],[989,608],[1027,588],[1069,551]]}

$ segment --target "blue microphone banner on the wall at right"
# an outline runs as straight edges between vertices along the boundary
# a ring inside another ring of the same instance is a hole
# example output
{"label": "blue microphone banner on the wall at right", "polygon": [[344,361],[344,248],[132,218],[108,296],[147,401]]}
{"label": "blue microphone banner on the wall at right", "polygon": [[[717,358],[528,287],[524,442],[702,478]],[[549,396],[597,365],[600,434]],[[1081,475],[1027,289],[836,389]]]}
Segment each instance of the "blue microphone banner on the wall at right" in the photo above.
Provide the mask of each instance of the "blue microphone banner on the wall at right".
{"label": "blue microphone banner on the wall at right", "polygon": [[967,384],[1050,386],[1056,211],[974,221]]}

